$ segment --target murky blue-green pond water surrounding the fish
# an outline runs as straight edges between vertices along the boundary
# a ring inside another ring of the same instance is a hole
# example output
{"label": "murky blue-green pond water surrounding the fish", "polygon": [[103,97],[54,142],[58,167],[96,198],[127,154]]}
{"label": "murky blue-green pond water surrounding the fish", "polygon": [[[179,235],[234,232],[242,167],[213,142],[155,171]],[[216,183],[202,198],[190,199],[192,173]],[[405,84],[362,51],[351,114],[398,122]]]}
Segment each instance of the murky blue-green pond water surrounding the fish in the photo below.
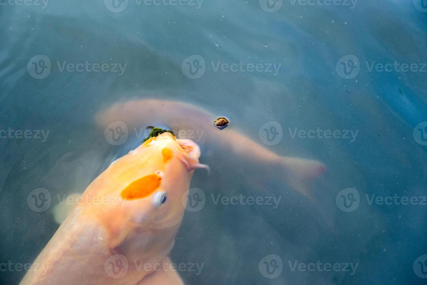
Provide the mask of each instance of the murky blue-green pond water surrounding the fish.
{"label": "murky blue-green pond water surrounding the fish", "polygon": [[[155,99],[327,167],[300,181],[304,195],[230,152],[241,137],[184,134],[211,167],[194,173],[205,204],[185,212],[170,255],[185,284],[425,284],[426,20],[425,0],[0,0],[0,283],[18,284],[16,265],[56,232],[58,197],[152,123],[198,120],[132,109],[141,119],[111,143],[99,114]],[[29,202],[39,188],[43,211]]]}

